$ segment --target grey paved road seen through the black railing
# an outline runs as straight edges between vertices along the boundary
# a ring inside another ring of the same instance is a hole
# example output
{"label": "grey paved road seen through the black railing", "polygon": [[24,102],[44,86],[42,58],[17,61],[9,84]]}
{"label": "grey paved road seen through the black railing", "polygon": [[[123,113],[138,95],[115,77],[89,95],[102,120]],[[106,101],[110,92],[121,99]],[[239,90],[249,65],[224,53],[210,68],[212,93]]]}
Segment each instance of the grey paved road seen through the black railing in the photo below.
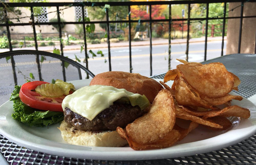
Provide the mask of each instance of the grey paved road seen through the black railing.
{"label": "grey paved road seen through the black railing", "polygon": [[[224,42],[224,54],[226,52]],[[99,49],[92,49],[96,53]],[[108,49],[100,49],[105,57],[94,57],[89,53],[88,65],[89,69],[98,74],[109,71]],[[186,44],[175,44],[171,47],[171,68],[175,68],[180,64],[176,59],[185,60]],[[88,50],[89,51],[89,50]],[[79,50],[64,51],[64,56],[71,59],[77,58],[83,61],[85,53]],[[207,44],[207,60],[221,56],[221,41],[208,42]],[[107,61],[105,63],[105,60]],[[189,62],[202,62],[204,60],[204,43],[191,43],[189,45]],[[168,70],[168,45],[152,46],[152,75],[166,72]],[[81,64],[83,64],[81,62]],[[85,65],[85,64],[84,64]],[[129,47],[111,48],[111,65],[112,71],[129,72]],[[150,58],[149,46],[133,46],[132,47],[132,67],[133,73],[139,73],[144,76],[150,76]]]}

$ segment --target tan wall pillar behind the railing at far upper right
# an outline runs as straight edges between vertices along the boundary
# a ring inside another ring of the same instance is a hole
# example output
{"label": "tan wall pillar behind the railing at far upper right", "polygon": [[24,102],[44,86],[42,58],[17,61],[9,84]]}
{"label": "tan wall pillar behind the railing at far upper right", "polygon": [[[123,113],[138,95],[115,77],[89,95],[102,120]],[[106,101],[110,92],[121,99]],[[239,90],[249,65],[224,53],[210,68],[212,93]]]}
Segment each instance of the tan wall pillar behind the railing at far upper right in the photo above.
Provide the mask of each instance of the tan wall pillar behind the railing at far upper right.
{"label": "tan wall pillar behind the railing at far upper right", "polygon": [[[229,3],[229,9],[233,9],[241,3]],[[229,12],[229,17],[240,16],[241,7]],[[244,16],[252,16],[256,13],[256,3],[246,2],[244,5]],[[227,46],[226,54],[238,53],[240,19],[228,19],[227,24]],[[255,52],[256,19],[244,18],[242,26],[241,50],[240,53]]]}

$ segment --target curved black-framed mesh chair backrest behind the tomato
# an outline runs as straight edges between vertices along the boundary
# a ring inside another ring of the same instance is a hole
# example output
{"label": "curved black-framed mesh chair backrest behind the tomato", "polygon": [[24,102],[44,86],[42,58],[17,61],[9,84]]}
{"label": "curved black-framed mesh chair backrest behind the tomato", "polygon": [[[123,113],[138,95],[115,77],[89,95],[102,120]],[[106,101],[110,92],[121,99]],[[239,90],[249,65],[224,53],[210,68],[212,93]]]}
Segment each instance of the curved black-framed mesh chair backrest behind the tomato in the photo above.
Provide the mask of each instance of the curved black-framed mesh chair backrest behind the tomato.
{"label": "curved black-framed mesh chair backrest behind the tomato", "polygon": [[0,53],[0,105],[10,99],[15,85],[27,80],[72,81],[94,76],[80,63],[58,54],[36,50],[3,52]]}

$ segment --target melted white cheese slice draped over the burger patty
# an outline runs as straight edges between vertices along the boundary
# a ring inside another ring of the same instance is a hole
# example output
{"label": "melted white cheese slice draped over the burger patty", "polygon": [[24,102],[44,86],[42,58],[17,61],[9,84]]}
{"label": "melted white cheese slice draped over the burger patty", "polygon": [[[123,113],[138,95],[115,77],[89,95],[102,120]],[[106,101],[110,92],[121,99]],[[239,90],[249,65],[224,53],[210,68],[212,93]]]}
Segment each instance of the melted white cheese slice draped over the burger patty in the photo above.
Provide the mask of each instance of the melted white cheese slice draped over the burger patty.
{"label": "melted white cheese slice draped over the burger patty", "polygon": [[134,94],[125,89],[117,89],[113,86],[84,86],[64,98],[62,109],[64,111],[67,107],[82,117],[92,120],[104,109],[113,105],[114,101],[122,97],[138,98],[140,96],[140,94]]}

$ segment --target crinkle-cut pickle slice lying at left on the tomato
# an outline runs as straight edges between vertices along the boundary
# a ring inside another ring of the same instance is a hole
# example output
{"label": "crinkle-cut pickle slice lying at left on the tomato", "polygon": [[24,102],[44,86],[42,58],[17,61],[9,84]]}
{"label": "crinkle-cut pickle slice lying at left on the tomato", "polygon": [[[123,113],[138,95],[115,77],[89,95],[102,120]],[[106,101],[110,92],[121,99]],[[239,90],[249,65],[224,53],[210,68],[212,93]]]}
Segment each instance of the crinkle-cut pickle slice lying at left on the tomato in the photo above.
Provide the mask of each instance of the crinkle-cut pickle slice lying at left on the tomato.
{"label": "crinkle-cut pickle slice lying at left on the tomato", "polygon": [[38,85],[35,88],[35,91],[39,93],[41,96],[51,98],[61,97],[64,94],[62,89],[57,84],[53,83]]}

